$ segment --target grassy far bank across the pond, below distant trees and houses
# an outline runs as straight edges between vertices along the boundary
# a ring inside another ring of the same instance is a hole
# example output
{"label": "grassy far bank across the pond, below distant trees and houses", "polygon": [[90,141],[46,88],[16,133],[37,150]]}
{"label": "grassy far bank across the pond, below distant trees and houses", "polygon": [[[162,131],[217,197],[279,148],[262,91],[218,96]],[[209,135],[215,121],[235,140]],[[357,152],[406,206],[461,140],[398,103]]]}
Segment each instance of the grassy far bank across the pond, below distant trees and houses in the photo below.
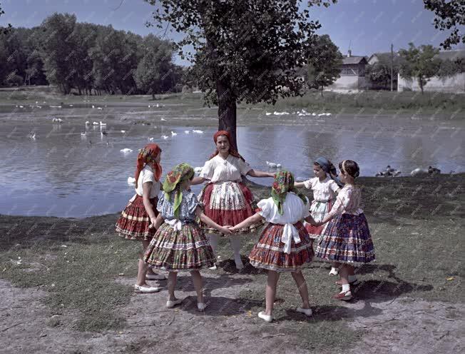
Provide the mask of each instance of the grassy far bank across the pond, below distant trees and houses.
{"label": "grassy far bank across the pond, below distant trees and houses", "polygon": [[[146,105],[153,103],[150,95],[106,95],[106,96],[63,96],[53,86],[29,86],[16,89],[0,89],[0,104],[35,104],[36,101],[47,104],[76,104],[83,101],[107,105],[130,104]],[[167,104],[183,104],[190,108],[204,106],[201,93],[170,93],[155,95],[155,101]],[[89,103],[89,102],[87,102]],[[463,94],[439,92],[390,92],[390,91],[359,91],[357,93],[337,93],[325,91],[309,91],[301,97],[282,98],[277,103],[267,105],[259,103],[255,106],[241,104],[239,108],[263,108],[267,111],[300,110],[330,111],[347,114],[412,114],[417,116],[435,115],[446,118],[464,118],[465,100]]]}

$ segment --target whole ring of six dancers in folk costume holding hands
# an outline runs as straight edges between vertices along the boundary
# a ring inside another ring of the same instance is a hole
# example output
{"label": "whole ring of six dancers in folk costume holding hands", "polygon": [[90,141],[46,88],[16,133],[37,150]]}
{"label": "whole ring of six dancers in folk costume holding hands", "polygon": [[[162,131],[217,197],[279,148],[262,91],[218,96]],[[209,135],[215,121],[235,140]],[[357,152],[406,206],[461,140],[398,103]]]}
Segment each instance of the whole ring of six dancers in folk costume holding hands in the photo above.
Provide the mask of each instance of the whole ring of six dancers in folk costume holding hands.
{"label": "whole ring of six dancers in folk costume holding hands", "polygon": [[[251,265],[268,273],[266,307],[258,317],[273,320],[277,282],[284,272],[291,273],[302,298],[302,306],[295,310],[312,315],[302,267],[313,258],[331,263],[330,275],[339,274],[336,284],[340,291],[332,298],[350,300],[351,287],[359,283],[354,265],[374,261],[372,237],[355,184],[358,164],[341,161],[337,173],[327,158],[319,157],[313,165],[315,177],[295,182],[289,171],[268,173],[250,167],[232,148],[228,131],[218,131],[213,140],[215,151],[199,176],[188,163],[180,163],[166,174],[163,183],[160,147],[149,143],[140,149],[136,194],[116,223],[120,236],[142,243],[135,291],[160,291],[159,285],[147,281],[166,280],[159,272],[168,272],[166,307],[174,308],[183,301],[175,296],[178,272],[188,271],[197,293],[197,308],[205,310],[200,269],[216,269],[219,238],[230,239],[236,268],[242,269],[239,236],[266,224],[249,255]],[[270,198],[255,203],[242,183],[244,176],[274,178]],[[195,196],[190,186],[200,183],[205,186]],[[311,189],[312,203],[297,188]]]}

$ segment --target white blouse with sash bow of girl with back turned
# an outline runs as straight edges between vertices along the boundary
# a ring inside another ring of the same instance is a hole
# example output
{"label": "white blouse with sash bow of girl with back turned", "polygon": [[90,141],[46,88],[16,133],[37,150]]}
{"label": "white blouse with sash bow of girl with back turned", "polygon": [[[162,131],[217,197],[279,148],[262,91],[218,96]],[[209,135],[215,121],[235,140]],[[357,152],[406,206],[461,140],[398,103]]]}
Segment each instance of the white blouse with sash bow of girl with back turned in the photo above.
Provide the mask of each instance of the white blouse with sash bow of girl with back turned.
{"label": "white blouse with sash bow of girl with back turned", "polygon": [[284,225],[282,229],[281,242],[285,244],[282,251],[291,253],[292,240],[294,243],[300,243],[299,231],[294,224],[310,215],[309,202],[304,203],[297,194],[288,192],[284,203],[282,203],[282,215],[278,213],[277,206],[273,198],[262,199],[257,203],[258,213],[269,223],[278,223]]}

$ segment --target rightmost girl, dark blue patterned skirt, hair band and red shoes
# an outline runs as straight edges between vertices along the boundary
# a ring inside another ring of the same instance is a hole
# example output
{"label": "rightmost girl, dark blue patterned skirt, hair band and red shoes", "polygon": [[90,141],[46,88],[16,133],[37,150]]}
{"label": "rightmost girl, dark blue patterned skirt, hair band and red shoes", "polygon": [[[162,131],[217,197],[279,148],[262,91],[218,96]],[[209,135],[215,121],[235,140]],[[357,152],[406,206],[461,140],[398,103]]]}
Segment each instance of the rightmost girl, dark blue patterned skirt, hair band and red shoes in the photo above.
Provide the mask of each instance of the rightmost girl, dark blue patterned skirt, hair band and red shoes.
{"label": "rightmost girl, dark blue patterned skirt, hair band and red shoes", "polygon": [[345,183],[337,195],[331,211],[317,225],[329,223],[318,242],[315,256],[339,265],[342,291],[333,296],[337,300],[350,300],[350,285],[357,285],[354,264],[374,261],[374,247],[369,233],[367,218],[360,205],[362,196],[354,180],[359,176],[359,166],[355,161],[339,163],[341,181]]}

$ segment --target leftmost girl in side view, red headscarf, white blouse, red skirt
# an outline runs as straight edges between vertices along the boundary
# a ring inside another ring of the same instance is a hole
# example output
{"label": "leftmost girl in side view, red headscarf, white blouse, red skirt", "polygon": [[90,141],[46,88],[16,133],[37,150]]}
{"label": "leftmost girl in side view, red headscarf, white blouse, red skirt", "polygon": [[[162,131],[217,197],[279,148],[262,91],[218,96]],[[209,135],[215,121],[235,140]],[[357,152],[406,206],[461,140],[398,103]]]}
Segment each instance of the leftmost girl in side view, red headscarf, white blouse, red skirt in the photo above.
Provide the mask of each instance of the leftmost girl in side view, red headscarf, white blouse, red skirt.
{"label": "leftmost girl in side view, red headscarf, white blouse, red skirt", "polygon": [[[155,143],[140,149],[136,165],[136,195],[131,198],[116,222],[116,232],[128,240],[141,241],[143,251],[155,234],[155,230],[149,226],[155,222],[158,214],[156,205],[162,171],[160,158],[161,149]],[[163,279],[165,275],[153,273],[146,263],[139,260],[137,282],[134,285],[136,292],[155,293],[160,288],[149,286],[145,280]]]}

